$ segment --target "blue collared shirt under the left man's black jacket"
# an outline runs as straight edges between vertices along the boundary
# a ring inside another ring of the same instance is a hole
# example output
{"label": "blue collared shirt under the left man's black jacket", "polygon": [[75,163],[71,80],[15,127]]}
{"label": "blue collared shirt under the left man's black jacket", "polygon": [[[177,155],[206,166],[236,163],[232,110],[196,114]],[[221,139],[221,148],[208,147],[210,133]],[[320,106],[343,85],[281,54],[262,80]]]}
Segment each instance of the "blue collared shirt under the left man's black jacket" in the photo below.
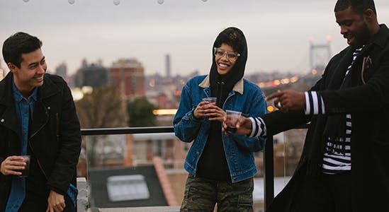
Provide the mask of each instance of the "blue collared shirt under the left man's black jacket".
{"label": "blue collared shirt under the left man's black jacket", "polygon": [[[21,92],[12,82],[13,99],[15,100],[16,115],[18,122],[21,124],[22,143],[21,155],[26,155],[28,145],[28,124],[29,119],[33,117],[35,102],[37,100],[38,88],[34,88],[33,93],[27,99],[23,97]],[[26,180],[21,177],[13,177],[11,184],[11,192],[6,205],[6,212],[18,211],[26,197]]]}

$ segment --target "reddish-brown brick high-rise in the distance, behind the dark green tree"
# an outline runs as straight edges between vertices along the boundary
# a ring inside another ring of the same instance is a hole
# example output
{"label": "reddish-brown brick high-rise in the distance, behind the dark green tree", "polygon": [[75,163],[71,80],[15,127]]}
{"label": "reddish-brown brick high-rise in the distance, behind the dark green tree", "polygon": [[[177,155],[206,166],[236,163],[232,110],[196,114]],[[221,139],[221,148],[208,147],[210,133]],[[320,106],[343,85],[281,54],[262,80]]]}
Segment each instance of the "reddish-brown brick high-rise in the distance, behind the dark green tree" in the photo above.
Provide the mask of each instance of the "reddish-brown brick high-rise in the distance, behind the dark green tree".
{"label": "reddish-brown brick high-rise in the distance, behind the dark green tree", "polygon": [[145,69],[137,59],[119,59],[109,73],[113,86],[123,98],[145,96]]}

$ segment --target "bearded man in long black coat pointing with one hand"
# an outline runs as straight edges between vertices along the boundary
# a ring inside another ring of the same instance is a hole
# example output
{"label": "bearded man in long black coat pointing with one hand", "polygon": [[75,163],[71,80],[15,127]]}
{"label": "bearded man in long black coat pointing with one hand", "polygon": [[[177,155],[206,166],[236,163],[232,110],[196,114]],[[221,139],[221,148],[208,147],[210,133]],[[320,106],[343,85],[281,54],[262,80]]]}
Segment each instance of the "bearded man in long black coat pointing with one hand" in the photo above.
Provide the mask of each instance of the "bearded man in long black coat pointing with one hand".
{"label": "bearded man in long black coat pointing with one hand", "polygon": [[310,122],[300,163],[266,211],[389,211],[389,30],[373,0],[338,0],[334,12],[349,47],[315,86],[269,95],[277,112],[239,120],[248,136]]}

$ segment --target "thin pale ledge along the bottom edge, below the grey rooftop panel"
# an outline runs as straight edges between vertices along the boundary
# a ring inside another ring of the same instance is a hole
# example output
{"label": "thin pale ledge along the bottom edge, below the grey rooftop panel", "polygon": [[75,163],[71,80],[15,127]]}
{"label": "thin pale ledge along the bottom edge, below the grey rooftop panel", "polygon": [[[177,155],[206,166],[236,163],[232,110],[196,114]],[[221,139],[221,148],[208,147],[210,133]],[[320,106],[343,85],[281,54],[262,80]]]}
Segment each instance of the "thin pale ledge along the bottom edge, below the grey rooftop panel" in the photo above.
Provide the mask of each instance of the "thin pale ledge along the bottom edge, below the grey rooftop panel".
{"label": "thin pale ledge along the bottom edge, below the grey rooftop panel", "polygon": [[139,207],[139,208],[88,208],[87,212],[179,212],[180,206]]}

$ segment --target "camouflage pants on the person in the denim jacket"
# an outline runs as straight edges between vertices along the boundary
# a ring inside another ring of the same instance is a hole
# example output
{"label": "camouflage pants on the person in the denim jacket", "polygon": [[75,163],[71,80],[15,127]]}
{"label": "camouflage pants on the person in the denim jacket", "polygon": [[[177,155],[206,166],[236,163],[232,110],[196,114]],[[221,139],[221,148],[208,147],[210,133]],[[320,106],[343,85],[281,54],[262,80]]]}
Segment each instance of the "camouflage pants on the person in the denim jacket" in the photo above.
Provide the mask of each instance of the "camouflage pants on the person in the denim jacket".
{"label": "camouflage pants on the person in the denim jacket", "polygon": [[213,211],[218,204],[222,212],[252,212],[253,190],[253,178],[231,183],[188,175],[180,211]]}

